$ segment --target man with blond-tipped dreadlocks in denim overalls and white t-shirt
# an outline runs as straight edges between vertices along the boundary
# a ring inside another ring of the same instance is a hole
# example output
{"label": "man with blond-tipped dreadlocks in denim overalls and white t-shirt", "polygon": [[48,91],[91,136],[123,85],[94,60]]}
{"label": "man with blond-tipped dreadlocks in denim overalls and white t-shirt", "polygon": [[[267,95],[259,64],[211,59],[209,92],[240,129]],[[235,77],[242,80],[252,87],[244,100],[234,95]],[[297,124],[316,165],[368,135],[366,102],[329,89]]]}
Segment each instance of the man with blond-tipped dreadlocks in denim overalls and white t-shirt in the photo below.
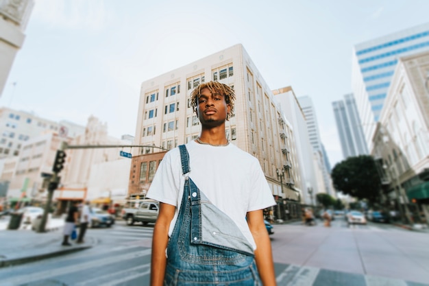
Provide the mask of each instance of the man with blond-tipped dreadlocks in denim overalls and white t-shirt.
{"label": "man with blond-tipped dreadlocks in denim overalls and white t-shirt", "polygon": [[151,286],[275,285],[262,211],[275,201],[259,161],[225,136],[234,99],[226,84],[197,86],[191,106],[201,133],[156,171],[147,193],[160,201]]}

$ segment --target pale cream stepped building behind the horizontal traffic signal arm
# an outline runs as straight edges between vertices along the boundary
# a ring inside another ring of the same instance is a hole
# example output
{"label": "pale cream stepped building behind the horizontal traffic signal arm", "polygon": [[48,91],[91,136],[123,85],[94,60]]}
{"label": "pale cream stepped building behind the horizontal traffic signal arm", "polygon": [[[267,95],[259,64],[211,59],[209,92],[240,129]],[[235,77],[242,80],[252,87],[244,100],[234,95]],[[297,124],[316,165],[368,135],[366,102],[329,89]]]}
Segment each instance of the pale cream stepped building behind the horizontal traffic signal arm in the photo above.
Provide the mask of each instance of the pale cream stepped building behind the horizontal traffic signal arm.
{"label": "pale cream stepped building behind the horizontal traffic signal arm", "polygon": [[[82,135],[75,136],[66,149],[62,186],[54,194],[60,212],[71,200],[90,200],[92,204],[107,208],[112,204],[125,204],[130,176],[131,159],[121,156],[130,153],[130,136],[125,140],[108,136],[107,124],[90,116]],[[110,147],[95,147],[97,145]],[[78,147],[81,146],[81,147]]]}

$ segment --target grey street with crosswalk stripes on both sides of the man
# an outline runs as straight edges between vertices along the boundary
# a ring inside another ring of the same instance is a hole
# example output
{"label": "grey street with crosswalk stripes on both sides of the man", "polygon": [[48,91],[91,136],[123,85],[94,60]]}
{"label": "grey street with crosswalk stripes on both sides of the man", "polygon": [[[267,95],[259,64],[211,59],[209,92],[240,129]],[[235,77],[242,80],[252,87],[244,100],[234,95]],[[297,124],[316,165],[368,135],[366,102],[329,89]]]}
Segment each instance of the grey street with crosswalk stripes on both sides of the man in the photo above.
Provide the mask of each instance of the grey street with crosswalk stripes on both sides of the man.
{"label": "grey street with crosswalk stripes on both sides of the man", "polygon": [[[271,235],[278,285],[429,285],[428,233],[389,224],[331,228],[275,224]],[[6,285],[149,285],[153,224],[91,228],[93,248],[0,268]],[[61,235],[61,230],[58,230]],[[408,282],[406,282],[408,281]]]}

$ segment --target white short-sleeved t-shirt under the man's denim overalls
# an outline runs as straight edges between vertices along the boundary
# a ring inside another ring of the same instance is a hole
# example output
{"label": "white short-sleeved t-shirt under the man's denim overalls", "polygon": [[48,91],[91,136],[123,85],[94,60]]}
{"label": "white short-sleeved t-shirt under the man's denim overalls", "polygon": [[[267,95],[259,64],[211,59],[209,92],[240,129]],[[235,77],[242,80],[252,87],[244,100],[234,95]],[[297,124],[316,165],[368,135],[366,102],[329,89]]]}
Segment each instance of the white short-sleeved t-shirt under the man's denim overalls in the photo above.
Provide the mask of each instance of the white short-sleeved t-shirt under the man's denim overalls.
{"label": "white short-sleeved t-shirt under the man's denim overalls", "polygon": [[[186,149],[191,169],[189,178],[212,204],[231,217],[256,249],[245,220],[246,213],[275,204],[259,161],[232,143],[213,147],[191,141],[186,144]],[[165,154],[147,193],[148,198],[176,206],[170,236],[182,202],[183,188],[180,150],[176,147]]]}

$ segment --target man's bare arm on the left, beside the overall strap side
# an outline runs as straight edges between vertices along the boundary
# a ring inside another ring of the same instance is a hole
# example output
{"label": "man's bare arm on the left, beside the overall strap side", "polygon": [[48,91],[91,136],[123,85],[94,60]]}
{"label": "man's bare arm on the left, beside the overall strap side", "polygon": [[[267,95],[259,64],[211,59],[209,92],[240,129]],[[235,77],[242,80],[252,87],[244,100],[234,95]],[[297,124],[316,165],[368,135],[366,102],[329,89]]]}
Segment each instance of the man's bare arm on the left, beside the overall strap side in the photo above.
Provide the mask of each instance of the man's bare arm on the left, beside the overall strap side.
{"label": "man's bare arm on the left, beside the overall strap side", "polygon": [[160,203],[160,211],[154,227],[154,236],[152,237],[151,286],[162,286],[164,284],[165,266],[167,265],[165,250],[169,242],[169,227],[174,212],[175,206]]}

